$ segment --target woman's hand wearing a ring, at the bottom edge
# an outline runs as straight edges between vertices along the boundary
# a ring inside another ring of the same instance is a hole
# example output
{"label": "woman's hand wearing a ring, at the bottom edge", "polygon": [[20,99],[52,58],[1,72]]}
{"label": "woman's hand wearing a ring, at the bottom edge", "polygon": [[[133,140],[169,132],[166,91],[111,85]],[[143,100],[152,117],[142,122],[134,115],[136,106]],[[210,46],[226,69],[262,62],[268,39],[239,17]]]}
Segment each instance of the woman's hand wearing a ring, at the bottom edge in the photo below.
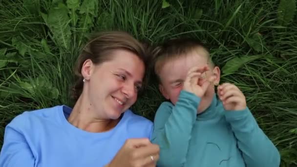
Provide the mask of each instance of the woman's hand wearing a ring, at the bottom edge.
{"label": "woman's hand wearing a ring, at the bottom edge", "polygon": [[106,167],[155,167],[159,151],[148,139],[128,139]]}

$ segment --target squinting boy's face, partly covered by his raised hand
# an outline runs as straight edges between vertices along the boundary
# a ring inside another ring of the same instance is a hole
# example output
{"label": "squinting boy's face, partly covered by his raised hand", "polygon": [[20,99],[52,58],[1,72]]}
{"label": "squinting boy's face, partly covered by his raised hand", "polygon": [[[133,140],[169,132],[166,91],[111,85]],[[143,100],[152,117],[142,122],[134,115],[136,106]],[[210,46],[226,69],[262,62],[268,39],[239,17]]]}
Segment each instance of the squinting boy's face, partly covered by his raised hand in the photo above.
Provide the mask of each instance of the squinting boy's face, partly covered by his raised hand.
{"label": "squinting boy's face, partly covered by his raised hand", "polygon": [[[204,67],[208,65],[208,57],[200,55],[193,51],[187,56],[181,56],[179,58],[170,60],[162,66],[159,76],[161,84],[159,85],[160,91],[163,96],[170,100],[172,104],[176,104],[179,93],[183,89],[183,83],[187,77],[189,69],[193,66]],[[220,70],[218,67],[210,67],[210,71],[206,71],[202,76],[210,77],[214,75],[216,77],[214,83],[219,83]],[[207,109],[212,103],[214,96],[214,86],[210,84],[207,88],[204,96],[201,98],[201,102],[197,108],[197,113],[200,113]]]}

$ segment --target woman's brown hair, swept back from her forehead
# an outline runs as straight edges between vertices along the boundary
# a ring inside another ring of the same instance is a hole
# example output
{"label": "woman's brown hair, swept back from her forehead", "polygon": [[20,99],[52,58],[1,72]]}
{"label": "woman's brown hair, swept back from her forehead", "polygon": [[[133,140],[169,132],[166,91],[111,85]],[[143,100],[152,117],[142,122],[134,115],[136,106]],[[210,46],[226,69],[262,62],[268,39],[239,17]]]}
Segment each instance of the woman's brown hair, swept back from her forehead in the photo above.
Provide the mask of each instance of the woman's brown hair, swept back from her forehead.
{"label": "woman's brown hair, swept back from her forehead", "polygon": [[72,98],[77,101],[82,94],[84,82],[81,73],[83,64],[90,59],[95,64],[100,64],[112,59],[112,52],[124,49],[137,55],[147,66],[147,55],[142,43],[123,31],[105,31],[95,33],[86,43],[75,65],[76,82],[72,87]]}

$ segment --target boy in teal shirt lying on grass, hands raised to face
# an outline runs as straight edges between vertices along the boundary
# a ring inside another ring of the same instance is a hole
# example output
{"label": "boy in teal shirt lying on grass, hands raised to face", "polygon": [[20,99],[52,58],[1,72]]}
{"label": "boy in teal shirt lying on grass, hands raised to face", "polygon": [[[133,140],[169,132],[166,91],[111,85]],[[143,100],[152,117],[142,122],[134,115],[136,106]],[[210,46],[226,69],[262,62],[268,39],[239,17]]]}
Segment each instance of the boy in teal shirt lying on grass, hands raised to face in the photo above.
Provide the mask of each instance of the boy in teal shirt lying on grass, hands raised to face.
{"label": "boy in teal shirt lying on grass, hands raised to face", "polygon": [[162,103],[154,119],[158,167],[279,167],[279,152],[243,93],[234,84],[218,85],[220,69],[205,47],[170,40],[155,58],[159,89],[171,102]]}

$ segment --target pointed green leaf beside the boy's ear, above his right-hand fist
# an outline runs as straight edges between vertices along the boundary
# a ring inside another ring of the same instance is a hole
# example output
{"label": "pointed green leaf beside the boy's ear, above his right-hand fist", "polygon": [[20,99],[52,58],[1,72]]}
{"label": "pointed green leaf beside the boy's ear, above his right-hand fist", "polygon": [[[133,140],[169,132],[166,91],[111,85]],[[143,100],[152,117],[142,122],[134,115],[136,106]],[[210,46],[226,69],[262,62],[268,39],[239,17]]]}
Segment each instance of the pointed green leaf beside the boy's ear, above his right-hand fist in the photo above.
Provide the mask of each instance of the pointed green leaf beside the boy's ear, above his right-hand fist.
{"label": "pointed green leaf beside the boy's ear, above his right-hand fist", "polygon": [[228,61],[222,68],[223,74],[229,75],[235,71],[237,71],[240,67],[242,67],[245,63],[249,63],[256,59],[262,58],[262,55],[256,56],[243,56],[243,57],[235,57]]}

